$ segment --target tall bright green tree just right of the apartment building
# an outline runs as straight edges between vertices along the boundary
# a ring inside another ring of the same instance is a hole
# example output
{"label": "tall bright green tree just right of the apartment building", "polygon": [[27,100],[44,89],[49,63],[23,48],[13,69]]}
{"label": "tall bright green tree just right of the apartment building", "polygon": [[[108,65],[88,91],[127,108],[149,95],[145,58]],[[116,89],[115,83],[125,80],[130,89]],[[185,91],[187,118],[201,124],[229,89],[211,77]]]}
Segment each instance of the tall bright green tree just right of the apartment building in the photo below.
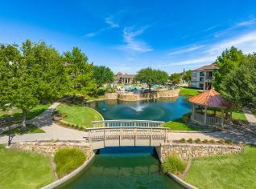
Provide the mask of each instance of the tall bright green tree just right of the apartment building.
{"label": "tall bright green tree just right of the apartment building", "polygon": [[216,64],[219,69],[215,70],[213,78],[213,86],[217,91],[221,90],[221,82],[231,70],[236,69],[241,64],[243,58],[244,54],[242,51],[237,50],[237,48],[234,46],[232,46],[229,50],[226,49],[222,52],[221,56],[217,57],[214,64]]}

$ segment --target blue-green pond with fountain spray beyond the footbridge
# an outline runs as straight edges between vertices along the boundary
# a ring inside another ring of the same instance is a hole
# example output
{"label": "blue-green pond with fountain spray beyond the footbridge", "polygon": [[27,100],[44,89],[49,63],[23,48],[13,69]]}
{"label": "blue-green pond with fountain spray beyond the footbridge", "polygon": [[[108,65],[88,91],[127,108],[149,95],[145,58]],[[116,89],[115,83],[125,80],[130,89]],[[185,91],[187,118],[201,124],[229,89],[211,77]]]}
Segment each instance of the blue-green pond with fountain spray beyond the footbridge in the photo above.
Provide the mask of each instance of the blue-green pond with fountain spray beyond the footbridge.
{"label": "blue-green pond with fountain spray beyond the footbridge", "polygon": [[188,97],[164,98],[137,102],[104,100],[89,103],[99,111],[104,119],[140,119],[155,121],[171,121],[179,119],[192,110]]}

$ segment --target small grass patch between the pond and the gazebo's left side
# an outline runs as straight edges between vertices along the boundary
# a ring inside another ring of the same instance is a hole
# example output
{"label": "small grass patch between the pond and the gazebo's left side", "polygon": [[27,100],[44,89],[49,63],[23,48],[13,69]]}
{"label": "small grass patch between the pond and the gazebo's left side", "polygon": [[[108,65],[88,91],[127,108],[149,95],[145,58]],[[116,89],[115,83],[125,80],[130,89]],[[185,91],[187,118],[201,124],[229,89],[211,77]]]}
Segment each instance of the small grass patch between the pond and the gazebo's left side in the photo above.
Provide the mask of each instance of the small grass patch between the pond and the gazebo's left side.
{"label": "small grass patch between the pond and the gazebo's left side", "polygon": [[182,119],[175,119],[174,121],[163,124],[163,127],[167,127],[172,131],[199,131],[200,128],[190,127],[186,123],[183,123]]}

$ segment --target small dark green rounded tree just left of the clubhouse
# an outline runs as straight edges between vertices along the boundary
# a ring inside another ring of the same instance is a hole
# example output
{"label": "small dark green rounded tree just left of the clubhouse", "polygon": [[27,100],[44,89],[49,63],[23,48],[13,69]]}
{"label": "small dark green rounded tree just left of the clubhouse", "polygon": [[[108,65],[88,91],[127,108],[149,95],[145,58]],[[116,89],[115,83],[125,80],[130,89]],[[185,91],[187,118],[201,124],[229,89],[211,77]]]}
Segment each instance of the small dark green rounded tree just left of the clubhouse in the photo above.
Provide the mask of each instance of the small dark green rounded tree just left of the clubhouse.
{"label": "small dark green rounded tree just left of the clubhouse", "polygon": [[106,66],[93,66],[93,75],[96,80],[97,88],[105,83],[114,82],[114,73]]}

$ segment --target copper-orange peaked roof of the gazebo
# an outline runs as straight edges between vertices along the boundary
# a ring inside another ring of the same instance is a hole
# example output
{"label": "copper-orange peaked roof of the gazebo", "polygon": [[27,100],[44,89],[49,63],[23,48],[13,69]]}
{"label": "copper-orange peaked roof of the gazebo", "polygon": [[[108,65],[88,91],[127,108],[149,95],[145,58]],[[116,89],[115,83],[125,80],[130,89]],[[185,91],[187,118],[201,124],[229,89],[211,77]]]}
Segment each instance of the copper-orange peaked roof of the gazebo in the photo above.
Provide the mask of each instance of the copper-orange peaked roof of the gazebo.
{"label": "copper-orange peaked roof of the gazebo", "polygon": [[190,103],[195,103],[203,107],[228,107],[228,103],[221,98],[216,90],[206,90],[188,99]]}

